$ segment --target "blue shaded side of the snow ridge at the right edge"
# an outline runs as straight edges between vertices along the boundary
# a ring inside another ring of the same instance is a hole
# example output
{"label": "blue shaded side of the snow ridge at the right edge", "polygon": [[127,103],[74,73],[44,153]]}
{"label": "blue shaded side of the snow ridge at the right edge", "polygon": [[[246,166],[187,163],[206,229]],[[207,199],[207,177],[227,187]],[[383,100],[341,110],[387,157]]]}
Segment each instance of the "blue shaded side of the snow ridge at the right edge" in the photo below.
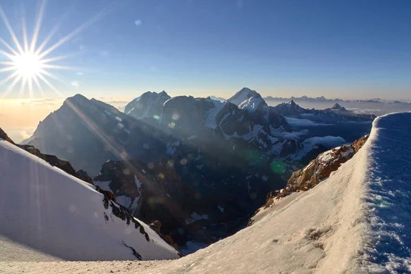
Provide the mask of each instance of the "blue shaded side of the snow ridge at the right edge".
{"label": "blue shaded side of the snow ridge at the right edge", "polygon": [[411,272],[411,112],[375,119],[369,144],[359,263],[364,272]]}

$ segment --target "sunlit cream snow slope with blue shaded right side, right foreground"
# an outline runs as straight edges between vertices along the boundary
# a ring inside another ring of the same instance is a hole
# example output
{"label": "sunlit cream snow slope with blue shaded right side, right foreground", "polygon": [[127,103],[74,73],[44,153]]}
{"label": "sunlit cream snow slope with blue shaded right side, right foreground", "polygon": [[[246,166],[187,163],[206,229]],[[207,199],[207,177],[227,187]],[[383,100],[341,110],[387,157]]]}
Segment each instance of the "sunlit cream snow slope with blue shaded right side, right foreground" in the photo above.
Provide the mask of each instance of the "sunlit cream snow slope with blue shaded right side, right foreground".
{"label": "sunlit cream snow slope with blue shaded right side, right foreground", "polygon": [[410,132],[411,113],[377,118],[328,179],[179,260],[5,262],[0,273],[410,273]]}

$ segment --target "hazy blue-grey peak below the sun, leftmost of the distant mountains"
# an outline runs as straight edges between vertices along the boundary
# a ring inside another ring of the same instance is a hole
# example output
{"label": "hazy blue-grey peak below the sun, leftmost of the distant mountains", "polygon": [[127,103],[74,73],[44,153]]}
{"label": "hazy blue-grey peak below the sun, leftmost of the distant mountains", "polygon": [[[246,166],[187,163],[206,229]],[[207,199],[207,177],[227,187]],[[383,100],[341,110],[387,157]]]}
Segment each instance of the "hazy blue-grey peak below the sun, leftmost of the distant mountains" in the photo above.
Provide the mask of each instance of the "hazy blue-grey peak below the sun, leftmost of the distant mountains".
{"label": "hazy blue-grey peak below the sun, leftmost of the distant mountains", "polygon": [[58,155],[75,169],[95,175],[101,164],[110,159],[160,160],[166,150],[162,135],[149,123],[136,120],[112,105],[75,95],[39,123],[27,145]]}

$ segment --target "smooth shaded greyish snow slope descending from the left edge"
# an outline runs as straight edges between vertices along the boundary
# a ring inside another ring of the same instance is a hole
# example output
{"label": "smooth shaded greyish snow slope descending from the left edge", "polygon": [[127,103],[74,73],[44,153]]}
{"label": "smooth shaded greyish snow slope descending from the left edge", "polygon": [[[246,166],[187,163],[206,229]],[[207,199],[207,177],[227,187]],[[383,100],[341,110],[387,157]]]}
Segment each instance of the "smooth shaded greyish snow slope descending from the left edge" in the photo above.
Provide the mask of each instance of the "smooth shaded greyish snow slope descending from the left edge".
{"label": "smooth shaded greyish snow slope descending from the left edge", "polygon": [[0,190],[0,261],[179,258],[148,225],[117,217],[121,209],[92,186],[5,140]]}

